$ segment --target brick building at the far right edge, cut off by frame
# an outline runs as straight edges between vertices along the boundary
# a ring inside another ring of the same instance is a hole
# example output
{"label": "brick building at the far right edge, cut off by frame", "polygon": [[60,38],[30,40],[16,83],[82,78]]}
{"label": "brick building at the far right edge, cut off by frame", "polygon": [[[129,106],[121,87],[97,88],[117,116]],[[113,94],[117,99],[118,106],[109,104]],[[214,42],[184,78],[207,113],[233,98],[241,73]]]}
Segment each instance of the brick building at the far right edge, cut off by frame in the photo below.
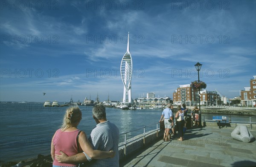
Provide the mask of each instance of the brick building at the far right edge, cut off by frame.
{"label": "brick building at the far right edge, cut off by frame", "polygon": [[256,76],[250,79],[250,87],[244,87],[241,91],[242,106],[256,106]]}

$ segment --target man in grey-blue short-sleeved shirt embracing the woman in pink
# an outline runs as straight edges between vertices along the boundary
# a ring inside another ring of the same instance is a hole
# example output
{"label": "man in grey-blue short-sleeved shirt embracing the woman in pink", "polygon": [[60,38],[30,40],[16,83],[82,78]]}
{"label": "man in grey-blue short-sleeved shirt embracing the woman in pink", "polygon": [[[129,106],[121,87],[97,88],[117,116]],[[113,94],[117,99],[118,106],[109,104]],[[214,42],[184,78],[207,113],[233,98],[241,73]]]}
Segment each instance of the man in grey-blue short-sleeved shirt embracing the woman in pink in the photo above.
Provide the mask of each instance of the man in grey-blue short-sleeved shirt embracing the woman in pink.
{"label": "man in grey-blue short-sleeved shirt embracing the woman in pink", "polygon": [[[90,167],[119,167],[119,129],[106,118],[106,109],[104,105],[95,105],[93,108],[93,119],[96,127],[92,130],[89,141],[93,145],[93,149],[110,151],[116,154],[113,158],[97,159],[94,163],[89,164]],[[61,152],[61,155],[55,156],[59,162],[79,163],[90,161],[91,158],[86,153],[79,153],[74,156],[67,156]]]}

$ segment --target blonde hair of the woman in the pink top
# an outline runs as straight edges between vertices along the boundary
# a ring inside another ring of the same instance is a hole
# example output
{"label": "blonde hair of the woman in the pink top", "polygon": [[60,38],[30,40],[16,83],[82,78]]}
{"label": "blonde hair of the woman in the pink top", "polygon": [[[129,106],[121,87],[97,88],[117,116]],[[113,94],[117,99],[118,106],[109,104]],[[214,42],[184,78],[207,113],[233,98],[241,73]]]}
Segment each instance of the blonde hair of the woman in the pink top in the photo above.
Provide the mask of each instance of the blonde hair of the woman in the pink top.
{"label": "blonde hair of the woman in the pink top", "polygon": [[61,126],[62,131],[67,130],[69,127],[77,127],[81,119],[82,112],[78,106],[68,108],[64,114],[63,123]]}

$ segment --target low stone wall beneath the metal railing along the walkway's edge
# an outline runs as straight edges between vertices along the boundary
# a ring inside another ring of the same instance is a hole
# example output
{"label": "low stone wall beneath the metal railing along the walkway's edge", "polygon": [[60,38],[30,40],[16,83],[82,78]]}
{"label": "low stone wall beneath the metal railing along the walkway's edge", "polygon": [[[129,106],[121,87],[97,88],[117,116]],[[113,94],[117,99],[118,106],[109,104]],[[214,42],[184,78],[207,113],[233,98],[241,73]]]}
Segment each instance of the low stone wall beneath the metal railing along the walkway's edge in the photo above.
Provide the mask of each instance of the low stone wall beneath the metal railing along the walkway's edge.
{"label": "low stone wall beneath the metal railing along the walkway's edge", "polygon": [[[144,145],[144,135],[140,134],[126,141],[126,148],[124,142],[120,143],[121,147],[119,147],[119,161],[125,159],[125,156],[131,155],[131,153],[139,150],[140,148],[148,145],[152,142],[156,142],[159,139],[162,139],[163,130],[158,130],[158,138],[157,138],[157,130],[148,131],[145,134],[145,145]],[[126,155],[125,155],[126,150]]]}

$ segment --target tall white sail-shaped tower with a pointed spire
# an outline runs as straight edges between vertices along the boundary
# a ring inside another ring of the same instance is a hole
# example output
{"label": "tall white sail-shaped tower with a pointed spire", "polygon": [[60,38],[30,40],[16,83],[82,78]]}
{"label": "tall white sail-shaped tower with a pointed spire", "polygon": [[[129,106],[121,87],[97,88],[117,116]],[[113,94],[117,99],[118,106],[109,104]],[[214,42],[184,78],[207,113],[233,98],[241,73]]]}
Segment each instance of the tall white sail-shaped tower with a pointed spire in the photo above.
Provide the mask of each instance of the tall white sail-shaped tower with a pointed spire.
{"label": "tall white sail-shaped tower with a pointed spire", "polygon": [[128,41],[127,41],[127,51],[122,58],[121,66],[120,66],[121,78],[124,84],[124,96],[123,102],[131,103],[131,76],[132,76],[132,59],[130,54],[129,47],[129,32],[128,32]]}

